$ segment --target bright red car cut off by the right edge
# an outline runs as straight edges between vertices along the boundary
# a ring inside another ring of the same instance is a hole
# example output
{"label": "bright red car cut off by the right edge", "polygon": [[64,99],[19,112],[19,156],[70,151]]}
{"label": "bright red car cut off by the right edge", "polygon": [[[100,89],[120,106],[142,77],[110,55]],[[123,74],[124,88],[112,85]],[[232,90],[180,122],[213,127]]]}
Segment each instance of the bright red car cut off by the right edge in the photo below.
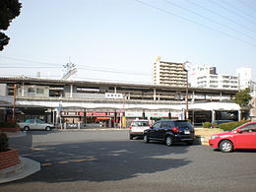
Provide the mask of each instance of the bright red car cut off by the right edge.
{"label": "bright red car cut off by the right edge", "polygon": [[245,123],[232,131],[212,135],[211,148],[228,153],[235,149],[256,149],[256,122]]}

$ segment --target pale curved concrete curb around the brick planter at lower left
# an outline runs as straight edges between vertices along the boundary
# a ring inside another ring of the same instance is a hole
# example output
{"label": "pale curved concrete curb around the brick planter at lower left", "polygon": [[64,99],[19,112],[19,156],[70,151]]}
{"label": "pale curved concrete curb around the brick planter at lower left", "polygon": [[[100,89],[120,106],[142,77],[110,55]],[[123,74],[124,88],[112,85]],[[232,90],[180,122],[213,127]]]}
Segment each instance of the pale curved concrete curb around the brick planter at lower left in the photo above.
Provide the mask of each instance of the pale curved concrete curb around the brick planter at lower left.
{"label": "pale curved concrete curb around the brick planter at lower left", "polygon": [[40,170],[39,162],[20,157],[19,164],[0,170],[0,183],[25,178],[38,170]]}

